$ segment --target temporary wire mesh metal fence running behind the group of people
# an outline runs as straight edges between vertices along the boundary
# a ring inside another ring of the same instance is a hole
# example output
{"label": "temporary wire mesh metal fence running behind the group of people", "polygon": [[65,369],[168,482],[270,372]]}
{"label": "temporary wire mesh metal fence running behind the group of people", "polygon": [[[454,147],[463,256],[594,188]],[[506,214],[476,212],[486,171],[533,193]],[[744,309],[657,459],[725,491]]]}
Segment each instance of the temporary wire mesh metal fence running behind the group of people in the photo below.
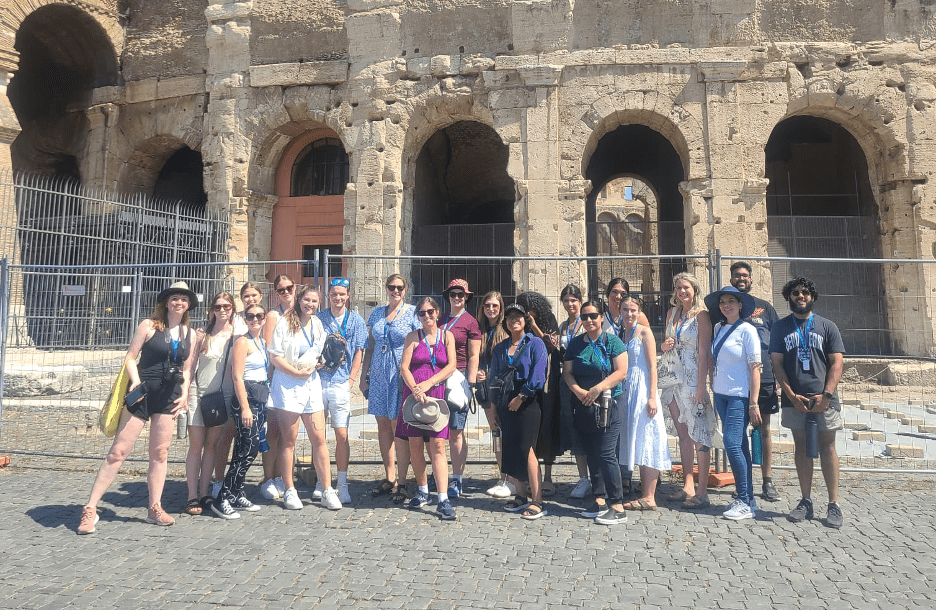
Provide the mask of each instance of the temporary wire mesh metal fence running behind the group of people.
{"label": "temporary wire mesh metal fence running behind the group of people", "polygon": [[[615,275],[625,277],[634,290],[647,297],[646,311],[652,323],[659,326],[667,308],[669,291],[665,286],[645,290],[642,278],[648,269],[668,269],[675,273],[684,269],[693,271],[708,290],[727,283],[728,267],[735,259],[718,253],[686,257],[612,257],[602,258],[516,258],[516,257],[375,257],[345,255],[323,256],[313,261],[278,261],[258,263],[214,263],[151,266],[145,271],[128,266],[99,267],[41,267],[12,264],[7,261],[0,271],[0,318],[7,330],[12,330],[11,287],[24,284],[24,276],[42,274],[50,290],[62,292],[67,286],[77,285],[76,277],[88,285],[94,282],[113,286],[111,292],[124,293],[129,286],[128,312],[125,317],[107,318],[104,310],[110,296],[101,295],[100,304],[92,301],[95,309],[89,316],[98,321],[112,320],[112,326],[97,325],[99,332],[83,332],[80,345],[62,342],[37,345],[31,340],[30,327],[20,327],[15,333],[3,332],[0,361],[0,448],[4,451],[48,453],[86,457],[102,456],[110,441],[97,430],[97,416],[102,401],[120,367],[127,347],[129,332],[137,321],[148,315],[157,289],[176,278],[204,278],[196,292],[207,302],[220,290],[237,294],[247,279],[258,283],[264,294],[272,299],[270,280],[279,273],[292,277],[313,274],[312,281],[327,285],[327,277],[341,273],[352,281],[351,306],[365,320],[370,312],[385,302],[384,280],[394,272],[409,279],[411,289],[407,299],[414,302],[424,295],[441,298],[441,291],[454,277],[463,277],[475,292],[476,300],[469,309],[475,313],[480,297],[492,286],[502,289],[509,302],[519,292],[537,290],[553,303],[556,317],[564,319],[559,306],[559,292],[567,283],[582,286],[595,284],[599,291],[609,278],[593,278],[595,269],[602,264],[614,265]],[[811,275],[817,263],[838,265],[848,270],[854,289],[848,282],[832,289],[833,284],[819,283],[821,297],[818,313],[838,323],[846,337],[846,373],[840,385],[845,402],[844,415],[848,430],[839,436],[839,453],[843,464],[858,468],[921,469],[936,465],[936,360],[933,359],[933,325],[931,310],[933,299],[925,286],[932,285],[929,278],[936,271],[936,261],[881,261],[848,260],[829,263],[825,259],[780,259],[746,257],[755,268],[755,291],[759,294],[774,292],[774,303],[781,315],[786,315],[776,294],[792,272]],[[210,268],[210,269],[208,269]],[[172,270],[171,272],[169,270]],[[329,272],[325,270],[329,269]],[[793,270],[793,271],[791,271]],[[655,272],[657,273],[657,272]],[[662,273],[662,272],[660,272]],[[849,316],[849,300],[861,298],[866,278],[882,277],[883,315],[880,317]],[[144,281],[145,280],[145,281]],[[759,283],[757,283],[759,280]],[[926,280],[926,281],[924,281]],[[903,286],[904,290],[890,286]],[[142,287],[142,288],[141,288]],[[151,288],[149,288],[151,287]],[[763,287],[763,289],[761,289]],[[144,289],[145,288],[145,289]],[[70,289],[69,289],[70,290]],[[272,305],[272,301],[268,301]],[[443,303],[443,306],[445,304]],[[71,310],[50,311],[44,324],[68,328]],[[199,317],[205,308],[198,310]],[[201,324],[201,319],[193,324]],[[110,328],[110,332],[107,332]],[[862,353],[856,342],[863,333],[877,333],[883,337],[888,350],[880,354]],[[14,340],[15,339],[15,340]],[[901,355],[900,357],[893,354]],[[773,425],[772,438],[776,452],[775,464],[792,467],[792,438],[786,429]],[[352,439],[352,460],[355,463],[379,461],[376,424],[366,414],[366,402],[355,392],[353,417],[349,436]],[[331,436],[329,434],[329,436]],[[476,474],[487,473],[482,463],[493,459],[490,436],[482,413],[469,420],[469,459]],[[672,450],[676,453],[675,440]],[[301,442],[299,455],[308,455],[309,445]],[[184,459],[187,450],[184,441],[173,443],[171,458]],[[137,444],[134,457],[143,458],[146,452],[145,436]],[[563,458],[568,460],[569,458]]]}

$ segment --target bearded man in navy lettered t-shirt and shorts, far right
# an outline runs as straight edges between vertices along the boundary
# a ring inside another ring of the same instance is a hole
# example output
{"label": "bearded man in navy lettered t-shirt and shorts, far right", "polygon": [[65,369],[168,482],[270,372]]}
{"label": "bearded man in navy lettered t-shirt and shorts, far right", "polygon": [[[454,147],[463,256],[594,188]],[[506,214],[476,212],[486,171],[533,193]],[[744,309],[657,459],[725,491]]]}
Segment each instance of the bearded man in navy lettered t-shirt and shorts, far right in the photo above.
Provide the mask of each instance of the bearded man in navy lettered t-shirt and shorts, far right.
{"label": "bearded man in navy lettered t-shirt and shorts, far right", "polygon": [[819,460],[829,491],[826,525],[842,527],[838,505],[838,454],[835,432],[841,430],[842,415],[836,387],[842,378],[845,345],[838,327],[813,313],[819,300],[815,284],[805,277],[790,280],[783,298],[793,313],[770,331],[770,360],[781,390],[782,425],[793,432],[796,475],[803,499],[789,514],[790,521],[812,519],[813,460],[806,456],[806,422],[815,418],[819,429]]}

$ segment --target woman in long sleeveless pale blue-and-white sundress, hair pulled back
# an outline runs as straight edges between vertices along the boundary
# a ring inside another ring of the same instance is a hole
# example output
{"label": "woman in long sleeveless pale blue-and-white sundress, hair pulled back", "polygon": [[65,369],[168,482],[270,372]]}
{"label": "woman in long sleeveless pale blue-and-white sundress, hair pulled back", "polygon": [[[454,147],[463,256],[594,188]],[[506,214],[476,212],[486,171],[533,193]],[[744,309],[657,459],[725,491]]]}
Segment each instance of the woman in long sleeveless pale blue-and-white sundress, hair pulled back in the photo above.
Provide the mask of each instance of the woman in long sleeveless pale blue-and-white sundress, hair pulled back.
{"label": "woman in long sleeveless pale blue-and-white sundress, hair pulled back", "polygon": [[633,294],[621,303],[628,363],[624,382],[627,424],[621,434],[618,461],[628,470],[635,464],[640,466],[640,497],[626,502],[624,510],[655,510],[660,471],[672,468],[657,390],[656,339],[648,326],[637,323],[642,304]]}

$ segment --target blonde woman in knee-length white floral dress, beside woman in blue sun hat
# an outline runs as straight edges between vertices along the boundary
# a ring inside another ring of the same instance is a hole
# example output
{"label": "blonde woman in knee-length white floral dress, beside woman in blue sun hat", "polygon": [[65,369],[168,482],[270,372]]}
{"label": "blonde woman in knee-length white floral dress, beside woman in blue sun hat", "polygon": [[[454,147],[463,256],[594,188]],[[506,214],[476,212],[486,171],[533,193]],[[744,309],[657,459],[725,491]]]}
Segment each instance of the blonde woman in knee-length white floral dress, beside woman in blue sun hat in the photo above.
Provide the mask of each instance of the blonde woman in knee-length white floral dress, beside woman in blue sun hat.
{"label": "blonde woman in knee-length white floral dress, beside woman in blue sun hat", "polygon": [[[706,391],[712,322],[702,304],[699,281],[689,273],[673,278],[673,307],[666,317],[665,339],[660,345],[663,359],[658,371],[663,404],[669,408],[679,437],[679,455],[684,482],[667,499],[681,501],[686,508],[710,506],[708,499],[709,449],[721,446],[715,409]],[[698,406],[702,405],[701,411]],[[699,462],[696,490],[693,458]]]}

